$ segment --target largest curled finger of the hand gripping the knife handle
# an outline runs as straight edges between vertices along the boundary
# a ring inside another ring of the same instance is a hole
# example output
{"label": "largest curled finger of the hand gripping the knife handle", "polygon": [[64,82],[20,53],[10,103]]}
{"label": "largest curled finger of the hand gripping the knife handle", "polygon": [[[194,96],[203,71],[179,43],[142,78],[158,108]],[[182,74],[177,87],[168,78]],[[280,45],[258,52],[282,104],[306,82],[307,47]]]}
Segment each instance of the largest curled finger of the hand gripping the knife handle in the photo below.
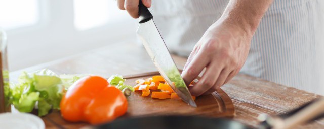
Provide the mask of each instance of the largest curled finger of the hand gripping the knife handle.
{"label": "largest curled finger of the hand gripping the knife handle", "polygon": [[124,8],[133,17],[138,18],[139,0],[125,0]]}

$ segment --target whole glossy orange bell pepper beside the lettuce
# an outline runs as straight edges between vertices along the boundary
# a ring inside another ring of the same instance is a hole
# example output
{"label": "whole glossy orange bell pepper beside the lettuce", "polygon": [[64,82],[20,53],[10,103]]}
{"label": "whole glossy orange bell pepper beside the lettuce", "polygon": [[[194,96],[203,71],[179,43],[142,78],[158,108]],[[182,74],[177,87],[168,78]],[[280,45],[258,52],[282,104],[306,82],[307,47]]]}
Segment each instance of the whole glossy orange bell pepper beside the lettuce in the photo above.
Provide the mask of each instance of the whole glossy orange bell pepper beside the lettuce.
{"label": "whole glossy orange bell pepper beside the lettuce", "polygon": [[127,111],[127,99],[106,79],[87,76],[76,81],[63,96],[60,104],[65,120],[91,124],[114,120]]}

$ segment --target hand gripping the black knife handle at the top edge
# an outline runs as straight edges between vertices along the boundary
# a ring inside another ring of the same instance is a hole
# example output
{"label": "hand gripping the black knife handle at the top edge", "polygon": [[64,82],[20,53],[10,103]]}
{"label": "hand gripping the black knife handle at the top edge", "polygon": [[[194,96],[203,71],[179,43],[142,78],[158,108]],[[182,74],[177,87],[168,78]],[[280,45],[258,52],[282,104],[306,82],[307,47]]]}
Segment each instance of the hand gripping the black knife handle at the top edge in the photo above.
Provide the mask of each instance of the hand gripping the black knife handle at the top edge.
{"label": "hand gripping the black knife handle at the top edge", "polygon": [[133,18],[138,18],[139,1],[147,8],[151,7],[151,0],[117,0],[117,6],[120,10],[126,10]]}

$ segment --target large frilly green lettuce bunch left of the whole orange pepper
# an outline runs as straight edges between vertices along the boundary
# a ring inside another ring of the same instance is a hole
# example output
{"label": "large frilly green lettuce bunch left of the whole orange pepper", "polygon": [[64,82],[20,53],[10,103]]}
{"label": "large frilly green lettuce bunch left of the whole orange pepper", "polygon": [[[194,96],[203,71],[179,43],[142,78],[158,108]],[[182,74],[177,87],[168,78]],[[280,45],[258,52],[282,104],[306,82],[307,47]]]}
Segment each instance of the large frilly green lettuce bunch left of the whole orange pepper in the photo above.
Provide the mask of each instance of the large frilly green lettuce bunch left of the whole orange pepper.
{"label": "large frilly green lettuce bunch left of the whole orange pepper", "polygon": [[38,115],[44,116],[51,108],[59,109],[63,89],[59,76],[44,69],[32,73],[23,72],[18,83],[11,85],[11,95],[8,96],[20,112],[31,112],[38,102]]}

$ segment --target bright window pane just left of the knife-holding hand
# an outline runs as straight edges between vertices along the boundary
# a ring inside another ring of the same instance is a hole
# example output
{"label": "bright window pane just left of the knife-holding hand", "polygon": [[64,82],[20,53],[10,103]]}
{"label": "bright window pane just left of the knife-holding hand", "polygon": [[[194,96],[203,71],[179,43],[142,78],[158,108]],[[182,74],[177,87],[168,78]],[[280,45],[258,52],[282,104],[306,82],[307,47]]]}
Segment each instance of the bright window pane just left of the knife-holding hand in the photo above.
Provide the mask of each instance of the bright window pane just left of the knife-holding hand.
{"label": "bright window pane just left of the knife-holding hand", "polygon": [[127,17],[112,0],[74,0],[74,26],[87,30]]}

